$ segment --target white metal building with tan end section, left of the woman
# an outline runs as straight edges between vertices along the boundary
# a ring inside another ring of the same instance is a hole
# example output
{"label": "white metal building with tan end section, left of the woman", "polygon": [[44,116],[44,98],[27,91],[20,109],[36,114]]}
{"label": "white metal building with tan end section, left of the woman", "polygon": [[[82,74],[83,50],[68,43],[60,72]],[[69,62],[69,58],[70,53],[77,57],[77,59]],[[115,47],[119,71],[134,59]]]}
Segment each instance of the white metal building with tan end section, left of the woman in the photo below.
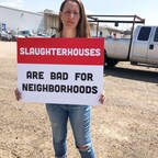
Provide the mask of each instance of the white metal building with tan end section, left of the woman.
{"label": "white metal building with tan end section, left of the woman", "polygon": [[41,13],[0,5],[0,30],[53,33],[57,27],[57,13],[45,10]]}

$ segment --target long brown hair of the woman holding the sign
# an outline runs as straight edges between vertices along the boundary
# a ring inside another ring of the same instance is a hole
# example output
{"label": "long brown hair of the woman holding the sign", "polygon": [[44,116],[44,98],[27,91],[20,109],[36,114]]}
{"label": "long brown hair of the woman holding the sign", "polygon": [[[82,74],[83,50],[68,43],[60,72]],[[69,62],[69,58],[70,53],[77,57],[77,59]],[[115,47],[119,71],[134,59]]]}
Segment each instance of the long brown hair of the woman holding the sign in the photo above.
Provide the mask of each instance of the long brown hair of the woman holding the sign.
{"label": "long brown hair of the woman holding the sign", "polygon": [[[90,27],[89,27],[89,23],[87,20],[87,15],[82,2],[80,0],[65,0],[60,5],[59,9],[60,12],[63,12],[65,3],[67,1],[76,2],[79,5],[80,20],[77,25],[77,37],[90,37]],[[63,27],[64,25],[59,18],[58,32],[61,32]]]}

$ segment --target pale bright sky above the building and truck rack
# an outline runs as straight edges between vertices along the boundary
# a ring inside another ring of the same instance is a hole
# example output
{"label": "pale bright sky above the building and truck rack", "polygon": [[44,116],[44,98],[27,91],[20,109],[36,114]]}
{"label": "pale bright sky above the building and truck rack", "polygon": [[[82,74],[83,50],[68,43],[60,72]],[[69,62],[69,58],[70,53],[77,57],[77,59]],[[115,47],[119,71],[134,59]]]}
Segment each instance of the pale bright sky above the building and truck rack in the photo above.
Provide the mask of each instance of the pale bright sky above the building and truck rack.
{"label": "pale bright sky above the building and truck rack", "polygon": [[[63,0],[0,0],[0,5],[31,12],[45,9],[58,11]],[[88,14],[127,14],[146,19],[146,24],[158,25],[156,16],[158,0],[82,0]]]}

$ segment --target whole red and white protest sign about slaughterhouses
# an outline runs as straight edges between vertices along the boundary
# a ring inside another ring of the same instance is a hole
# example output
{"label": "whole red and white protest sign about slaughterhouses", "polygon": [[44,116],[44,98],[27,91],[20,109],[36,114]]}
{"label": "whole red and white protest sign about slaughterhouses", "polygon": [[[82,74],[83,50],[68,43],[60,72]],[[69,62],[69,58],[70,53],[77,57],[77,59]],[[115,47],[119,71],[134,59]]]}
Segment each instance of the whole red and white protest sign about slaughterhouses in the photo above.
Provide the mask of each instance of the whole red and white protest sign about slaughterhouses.
{"label": "whole red and white protest sign about slaughterhouses", "polygon": [[18,89],[24,102],[98,105],[103,38],[19,38]]}

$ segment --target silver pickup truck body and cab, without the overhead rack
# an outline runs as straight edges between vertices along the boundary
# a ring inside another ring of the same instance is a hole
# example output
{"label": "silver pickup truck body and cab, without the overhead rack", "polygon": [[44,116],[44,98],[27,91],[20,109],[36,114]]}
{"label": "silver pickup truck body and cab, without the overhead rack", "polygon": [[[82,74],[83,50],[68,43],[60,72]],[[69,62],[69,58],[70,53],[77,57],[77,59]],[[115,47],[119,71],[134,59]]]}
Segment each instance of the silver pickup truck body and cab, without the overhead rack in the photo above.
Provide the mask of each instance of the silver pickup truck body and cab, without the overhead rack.
{"label": "silver pickup truck body and cab, without the overhead rack", "polygon": [[105,65],[119,61],[158,66],[158,26],[137,25],[132,38],[105,38]]}

